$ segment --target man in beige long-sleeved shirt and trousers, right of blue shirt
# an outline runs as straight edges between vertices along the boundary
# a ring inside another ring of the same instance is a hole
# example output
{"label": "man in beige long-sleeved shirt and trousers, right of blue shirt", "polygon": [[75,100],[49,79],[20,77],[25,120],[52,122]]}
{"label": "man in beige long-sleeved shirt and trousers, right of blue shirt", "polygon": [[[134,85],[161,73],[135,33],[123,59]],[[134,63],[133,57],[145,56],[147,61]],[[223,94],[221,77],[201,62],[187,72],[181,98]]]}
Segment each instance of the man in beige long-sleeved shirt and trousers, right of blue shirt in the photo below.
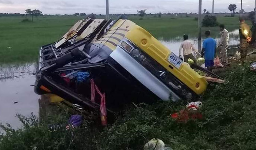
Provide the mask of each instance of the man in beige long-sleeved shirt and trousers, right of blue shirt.
{"label": "man in beige long-sleeved shirt and trousers, right of blue shirt", "polygon": [[225,25],[219,25],[221,29],[221,39],[219,40],[218,46],[221,47],[221,62],[224,64],[228,63],[228,41],[229,41],[229,33],[228,30],[225,29]]}

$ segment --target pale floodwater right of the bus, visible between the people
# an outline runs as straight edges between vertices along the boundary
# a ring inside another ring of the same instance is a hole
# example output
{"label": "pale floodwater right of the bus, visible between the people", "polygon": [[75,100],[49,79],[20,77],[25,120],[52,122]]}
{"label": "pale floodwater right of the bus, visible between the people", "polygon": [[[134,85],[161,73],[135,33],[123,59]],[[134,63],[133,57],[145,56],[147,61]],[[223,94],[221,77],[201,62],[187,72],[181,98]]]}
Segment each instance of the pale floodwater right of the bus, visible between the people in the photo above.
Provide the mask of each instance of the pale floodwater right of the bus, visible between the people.
{"label": "pale floodwater right of the bus, visible between the people", "polygon": [[[216,41],[219,41],[219,38],[216,38]],[[197,49],[198,40],[197,38],[191,38],[189,39]],[[168,49],[170,49],[174,54],[179,56],[179,48],[181,45],[181,42],[183,41],[183,37],[175,37],[173,40],[170,41],[163,41],[160,39],[160,42],[165,45]],[[203,40],[202,40],[203,41]],[[239,30],[234,30],[232,32],[229,32],[229,46],[235,46],[239,44]]]}

